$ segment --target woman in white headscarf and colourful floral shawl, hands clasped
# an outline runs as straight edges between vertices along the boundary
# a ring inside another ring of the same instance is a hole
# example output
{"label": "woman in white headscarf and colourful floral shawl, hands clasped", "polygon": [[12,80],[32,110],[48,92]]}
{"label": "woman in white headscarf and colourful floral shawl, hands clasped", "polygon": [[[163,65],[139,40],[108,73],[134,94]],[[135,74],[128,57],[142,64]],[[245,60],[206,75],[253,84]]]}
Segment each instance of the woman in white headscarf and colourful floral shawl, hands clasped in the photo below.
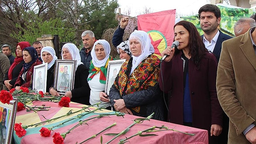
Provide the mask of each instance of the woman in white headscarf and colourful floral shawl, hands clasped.
{"label": "woman in white headscarf and colourful floral shawl, hands clasped", "polygon": [[129,37],[132,57],[124,62],[109,91],[114,110],[163,120],[163,96],[158,85],[160,60],[145,31],[135,30]]}

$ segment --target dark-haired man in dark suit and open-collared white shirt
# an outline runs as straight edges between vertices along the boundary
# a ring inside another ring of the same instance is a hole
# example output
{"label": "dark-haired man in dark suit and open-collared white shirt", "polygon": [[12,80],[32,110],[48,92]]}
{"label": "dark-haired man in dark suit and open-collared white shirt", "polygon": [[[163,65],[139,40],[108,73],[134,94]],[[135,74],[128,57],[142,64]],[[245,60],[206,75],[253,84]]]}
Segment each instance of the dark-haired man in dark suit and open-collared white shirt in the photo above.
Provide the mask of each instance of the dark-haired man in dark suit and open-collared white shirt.
{"label": "dark-haired man in dark suit and open-collared white shirt", "polygon": [[[221,55],[221,45],[223,41],[233,38],[227,34],[223,34],[218,30],[221,22],[221,10],[213,4],[206,4],[198,11],[200,26],[204,34],[201,36],[205,47],[210,50],[217,61]],[[219,144],[227,143],[227,134],[229,132],[229,118],[223,111],[222,133],[219,135]]]}

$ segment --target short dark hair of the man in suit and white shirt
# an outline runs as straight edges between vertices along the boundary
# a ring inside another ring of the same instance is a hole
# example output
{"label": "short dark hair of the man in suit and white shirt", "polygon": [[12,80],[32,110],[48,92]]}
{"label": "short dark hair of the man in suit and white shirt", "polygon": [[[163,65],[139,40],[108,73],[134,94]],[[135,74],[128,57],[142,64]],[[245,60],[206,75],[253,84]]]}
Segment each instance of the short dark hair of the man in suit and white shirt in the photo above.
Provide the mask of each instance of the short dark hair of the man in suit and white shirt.
{"label": "short dark hair of the man in suit and white shirt", "polygon": [[213,12],[216,18],[221,18],[221,10],[217,5],[214,4],[206,4],[201,7],[198,11],[198,17],[200,19],[201,12]]}

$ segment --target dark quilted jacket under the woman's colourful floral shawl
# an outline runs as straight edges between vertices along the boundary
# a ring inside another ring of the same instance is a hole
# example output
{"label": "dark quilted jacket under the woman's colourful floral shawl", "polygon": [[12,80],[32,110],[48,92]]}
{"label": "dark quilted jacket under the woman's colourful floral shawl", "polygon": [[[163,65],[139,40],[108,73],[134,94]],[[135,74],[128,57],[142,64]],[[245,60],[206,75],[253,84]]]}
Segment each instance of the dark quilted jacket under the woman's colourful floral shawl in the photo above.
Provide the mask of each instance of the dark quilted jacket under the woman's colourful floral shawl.
{"label": "dark quilted jacket under the woman's colourful floral shawl", "polygon": [[[164,120],[163,94],[159,88],[159,84],[149,87],[146,90],[136,91],[132,94],[121,96],[119,90],[112,85],[109,91],[111,106],[114,109],[114,99],[124,99],[125,106],[134,112],[131,108],[140,106],[140,113],[133,113],[140,117],[147,117],[155,113],[153,119]],[[115,110],[115,109],[114,109]]]}

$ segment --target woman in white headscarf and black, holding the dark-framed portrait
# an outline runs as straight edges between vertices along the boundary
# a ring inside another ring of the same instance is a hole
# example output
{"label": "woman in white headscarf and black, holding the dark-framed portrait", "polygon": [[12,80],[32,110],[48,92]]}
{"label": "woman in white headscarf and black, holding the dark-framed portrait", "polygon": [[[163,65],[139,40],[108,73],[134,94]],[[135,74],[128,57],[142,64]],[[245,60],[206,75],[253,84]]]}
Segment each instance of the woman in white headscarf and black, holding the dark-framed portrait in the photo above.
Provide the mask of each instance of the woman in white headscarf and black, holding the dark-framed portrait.
{"label": "woman in white headscarf and black, holding the dark-framed portrait", "polygon": [[[71,98],[72,102],[85,105],[89,104],[90,87],[86,78],[89,75],[88,69],[81,62],[79,49],[74,43],[65,43],[61,49],[62,60],[76,60],[76,72],[74,80],[74,89],[65,92],[65,96]],[[50,94],[60,95],[54,88],[50,88]]]}

